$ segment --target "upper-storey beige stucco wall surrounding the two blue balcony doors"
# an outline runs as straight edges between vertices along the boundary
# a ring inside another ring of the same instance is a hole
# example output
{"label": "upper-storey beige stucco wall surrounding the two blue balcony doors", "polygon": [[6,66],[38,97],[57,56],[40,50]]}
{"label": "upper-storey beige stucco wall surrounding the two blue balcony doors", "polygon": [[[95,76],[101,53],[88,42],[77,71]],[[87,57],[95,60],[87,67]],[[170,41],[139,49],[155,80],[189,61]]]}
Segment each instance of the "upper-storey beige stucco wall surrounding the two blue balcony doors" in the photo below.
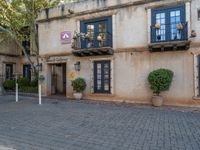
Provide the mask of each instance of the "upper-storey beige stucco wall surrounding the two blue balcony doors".
{"label": "upper-storey beige stucco wall surrounding the two blue balcony doors", "polygon": [[[134,1],[131,1],[134,3]],[[180,1],[179,1],[180,2]],[[99,4],[98,4],[99,3]],[[102,2],[103,3],[103,2]],[[99,13],[95,13],[100,10],[100,8],[106,8],[109,6],[120,5],[122,1],[105,1],[106,5],[101,6],[101,2],[97,1],[86,1],[79,3],[72,3],[65,5],[64,11],[72,9],[75,12],[74,16],[66,16],[60,19],[55,19],[54,17],[60,16],[58,13],[61,11],[61,6],[52,8],[49,10],[49,19],[54,18],[54,20],[46,20],[44,22],[39,22],[39,49],[40,55],[52,55],[52,54],[66,54],[70,53],[72,48],[71,44],[62,44],[60,40],[60,34],[63,31],[71,31],[72,34],[75,30],[80,30],[80,21],[85,19],[98,18],[102,16],[112,16],[113,20],[113,47],[118,48],[128,48],[128,47],[147,47],[149,29],[150,29],[150,13],[151,9],[158,7],[159,5],[175,5],[174,1],[163,1],[163,2],[153,2],[145,5],[130,5],[129,7],[121,7],[116,9],[111,9]],[[126,3],[123,1],[123,3]],[[100,5],[98,7],[98,5]],[[190,8],[191,5],[191,8]],[[197,8],[200,6],[200,0],[193,0],[192,3],[188,3],[188,8],[186,9],[186,19],[188,21],[189,33],[195,30],[197,32],[197,37],[192,39],[194,42],[199,42],[200,39],[200,21],[197,20]],[[90,7],[89,7],[90,6]],[[186,6],[187,7],[187,6]],[[148,11],[150,9],[150,11]],[[94,13],[78,15],[79,12],[93,10]],[[38,18],[38,21],[45,19],[46,12],[43,11]],[[191,16],[191,17],[190,17]]]}

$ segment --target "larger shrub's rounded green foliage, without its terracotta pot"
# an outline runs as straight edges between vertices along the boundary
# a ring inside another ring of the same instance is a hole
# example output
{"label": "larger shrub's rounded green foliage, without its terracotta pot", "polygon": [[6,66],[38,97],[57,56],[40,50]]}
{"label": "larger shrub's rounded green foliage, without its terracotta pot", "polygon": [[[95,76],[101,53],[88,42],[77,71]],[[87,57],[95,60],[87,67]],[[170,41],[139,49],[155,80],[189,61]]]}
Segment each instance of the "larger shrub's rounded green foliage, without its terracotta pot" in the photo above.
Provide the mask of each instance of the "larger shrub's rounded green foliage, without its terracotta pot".
{"label": "larger shrub's rounded green foliage, without its terracotta pot", "polygon": [[148,76],[150,88],[153,93],[159,95],[160,92],[169,89],[174,73],[169,69],[157,69],[152,71]]}

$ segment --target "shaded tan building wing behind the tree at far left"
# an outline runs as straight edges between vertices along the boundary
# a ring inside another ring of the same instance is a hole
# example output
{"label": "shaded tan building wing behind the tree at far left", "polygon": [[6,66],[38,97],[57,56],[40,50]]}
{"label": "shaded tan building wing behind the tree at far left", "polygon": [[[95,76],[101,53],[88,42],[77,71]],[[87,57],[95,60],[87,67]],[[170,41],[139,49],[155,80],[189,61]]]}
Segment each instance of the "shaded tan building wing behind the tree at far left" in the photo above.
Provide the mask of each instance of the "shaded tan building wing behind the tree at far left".
{"label": "shaded tan building wing behind the tree at far left", "polygon": [[[30,54],[29,43],[24,41],[23,46],[26,47],[27,53]],[[0,39],[0,84],[6,79],[15,79],[15,74],[33,78],[31,65],[25,58],[22,50],[12,39]]]}

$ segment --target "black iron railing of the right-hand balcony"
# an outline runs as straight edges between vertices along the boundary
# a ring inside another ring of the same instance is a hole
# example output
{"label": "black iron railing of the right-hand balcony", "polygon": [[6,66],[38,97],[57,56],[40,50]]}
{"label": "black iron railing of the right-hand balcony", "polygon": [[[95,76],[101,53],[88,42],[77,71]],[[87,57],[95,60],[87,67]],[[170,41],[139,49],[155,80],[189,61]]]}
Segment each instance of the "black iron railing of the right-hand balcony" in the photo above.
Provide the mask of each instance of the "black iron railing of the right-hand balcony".
{"label": "black iron railing of the right-hand balcony", "polygon": [[186,40],[188,40],[187,22],[151,26],[151,43]]}

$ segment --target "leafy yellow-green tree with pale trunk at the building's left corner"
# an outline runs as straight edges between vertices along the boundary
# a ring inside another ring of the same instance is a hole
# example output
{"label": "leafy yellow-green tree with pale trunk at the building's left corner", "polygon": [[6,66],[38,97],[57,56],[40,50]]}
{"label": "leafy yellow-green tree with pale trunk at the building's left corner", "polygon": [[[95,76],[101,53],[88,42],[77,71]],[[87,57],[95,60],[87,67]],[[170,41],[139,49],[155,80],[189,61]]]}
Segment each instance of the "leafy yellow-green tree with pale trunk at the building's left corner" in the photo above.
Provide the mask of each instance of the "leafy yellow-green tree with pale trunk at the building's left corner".
{"label": "leafy yellow-green tree with pale trunk at the building's left corner", "polygon": [[30,41],[30,51],[34,56],[39,55],[36,18],[42,9],[58,3],[59,0],[0,0],[0,37],[11,37],[17,43],[35,73],[36,68],[22,41]]}

